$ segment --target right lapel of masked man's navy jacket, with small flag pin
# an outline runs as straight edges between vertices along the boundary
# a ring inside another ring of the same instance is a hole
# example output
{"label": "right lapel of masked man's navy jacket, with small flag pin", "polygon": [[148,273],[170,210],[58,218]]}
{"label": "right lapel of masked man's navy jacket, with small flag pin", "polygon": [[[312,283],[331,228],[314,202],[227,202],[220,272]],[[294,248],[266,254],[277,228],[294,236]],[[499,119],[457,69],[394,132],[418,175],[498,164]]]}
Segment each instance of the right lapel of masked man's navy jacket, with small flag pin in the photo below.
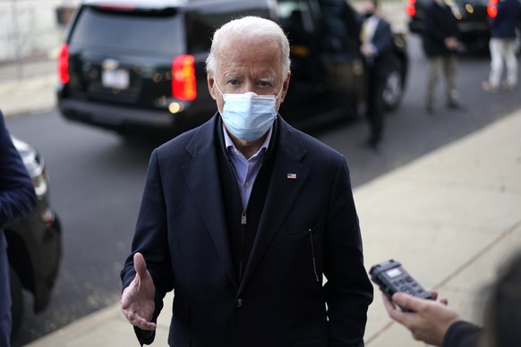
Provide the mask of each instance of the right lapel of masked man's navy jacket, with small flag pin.
{"label": "right lapel of masked man's navy jacket, with small flag pin", "polygon": [[253,242],[252,253],[244,269],[239,292],[248,283],[255,267],[259,265],[264,252],[268,249],[269,243],[277,235],[310,173],[310,169],[300,163],[306,154],[306,149],[298,139],[295,139],[294,133],[280,117],[278,122],[280,138],[277,152],[274,153],[275,162],[269,181],[266,204]]}

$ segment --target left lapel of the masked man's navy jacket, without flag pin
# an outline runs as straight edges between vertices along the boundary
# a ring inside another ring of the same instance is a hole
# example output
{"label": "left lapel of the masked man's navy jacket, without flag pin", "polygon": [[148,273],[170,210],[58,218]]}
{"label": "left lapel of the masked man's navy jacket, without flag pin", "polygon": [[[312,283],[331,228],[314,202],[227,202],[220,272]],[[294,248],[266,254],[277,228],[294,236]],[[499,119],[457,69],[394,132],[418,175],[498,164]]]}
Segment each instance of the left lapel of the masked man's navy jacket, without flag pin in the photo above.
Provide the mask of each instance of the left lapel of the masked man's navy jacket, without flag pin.
{"label": "left lapel of the masked man's navy jacket, without flag pin", "polygon": [[192,192],[192,198],[199,208],[203,223],[208,228],[226,275],[236,287],[238,284],[226,233],[226,213],[219,182],[215,126],[216,117],[204,124],[193,136],[186,148],[192,155],[192,161],[186,163],[182,170],[184,181]]}

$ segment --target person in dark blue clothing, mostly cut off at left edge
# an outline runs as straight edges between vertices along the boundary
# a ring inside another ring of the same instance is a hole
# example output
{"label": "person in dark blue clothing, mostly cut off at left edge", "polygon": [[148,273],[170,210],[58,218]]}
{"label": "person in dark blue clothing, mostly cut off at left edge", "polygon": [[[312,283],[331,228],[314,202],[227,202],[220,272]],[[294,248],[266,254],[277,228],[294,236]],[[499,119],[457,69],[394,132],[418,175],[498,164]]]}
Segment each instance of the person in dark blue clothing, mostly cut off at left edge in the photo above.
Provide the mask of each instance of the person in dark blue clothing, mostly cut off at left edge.
{"label": "person in dark blue clothing, mostly cut off at left edge", "polygon": [[0,112],[0,346],[11,340],[11,291],[7,241],[3,228],[35,207],[36,195],[30,175],[14,148]]}

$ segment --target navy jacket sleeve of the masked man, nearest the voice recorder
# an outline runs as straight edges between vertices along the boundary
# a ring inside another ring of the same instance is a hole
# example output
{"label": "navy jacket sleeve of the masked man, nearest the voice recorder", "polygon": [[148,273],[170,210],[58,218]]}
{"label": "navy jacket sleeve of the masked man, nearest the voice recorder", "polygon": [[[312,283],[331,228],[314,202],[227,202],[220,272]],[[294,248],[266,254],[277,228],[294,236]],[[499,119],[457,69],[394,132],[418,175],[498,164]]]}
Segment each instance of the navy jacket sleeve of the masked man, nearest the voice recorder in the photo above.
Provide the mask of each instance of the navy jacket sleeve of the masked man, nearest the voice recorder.
{"label": "navy jacket sleeve of the masked man, nearest the voice recorder", "polygon": [[363,346],[372,284],[363,266],[362,237],[346,165],[337,165],[325,234],[324,284],[329,346]]}

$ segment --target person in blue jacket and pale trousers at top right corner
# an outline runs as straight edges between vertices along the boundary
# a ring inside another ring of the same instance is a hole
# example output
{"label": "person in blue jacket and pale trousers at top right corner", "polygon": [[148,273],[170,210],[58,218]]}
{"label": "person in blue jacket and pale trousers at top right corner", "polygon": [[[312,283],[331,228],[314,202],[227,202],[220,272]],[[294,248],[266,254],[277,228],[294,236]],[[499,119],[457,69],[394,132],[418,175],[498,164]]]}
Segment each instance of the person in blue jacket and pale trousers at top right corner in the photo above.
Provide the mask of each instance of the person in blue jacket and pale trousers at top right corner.
{"label": "person in blue jacket and pale trousers at top right corner", "polygon": [[485,91],[496,92],[500,88],[503,63],[507,75],[503,86],[513,91],[517,88],[516,25],[520,21],[521,3],[518,0],[499,0],[497,14],[491,20],[491,72],[483,81]]}

